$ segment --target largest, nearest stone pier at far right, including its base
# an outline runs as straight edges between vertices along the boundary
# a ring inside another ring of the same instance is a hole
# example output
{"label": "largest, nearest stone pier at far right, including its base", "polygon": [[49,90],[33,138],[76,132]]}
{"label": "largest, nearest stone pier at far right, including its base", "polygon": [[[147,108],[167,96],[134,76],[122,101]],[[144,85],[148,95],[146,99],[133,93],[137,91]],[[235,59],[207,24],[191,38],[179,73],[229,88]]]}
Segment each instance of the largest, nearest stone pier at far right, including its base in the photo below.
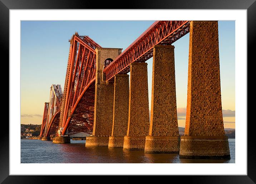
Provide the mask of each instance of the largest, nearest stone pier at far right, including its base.
{"label": "largest, nearest stone pier at far right, including its base", "polygon": [[191,21],[187,113],[179,158],[230,159],[220,84],[218,21]]}

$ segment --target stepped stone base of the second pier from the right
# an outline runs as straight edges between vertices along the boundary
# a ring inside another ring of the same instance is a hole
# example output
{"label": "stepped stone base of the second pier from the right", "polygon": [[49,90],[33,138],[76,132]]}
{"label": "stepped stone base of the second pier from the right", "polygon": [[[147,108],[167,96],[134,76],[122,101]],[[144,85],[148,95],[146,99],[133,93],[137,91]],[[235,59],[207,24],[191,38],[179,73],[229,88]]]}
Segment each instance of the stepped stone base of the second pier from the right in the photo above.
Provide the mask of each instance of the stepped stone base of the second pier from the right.
{"label": "stepped stone base of the second pier from the right", "polygon": [[179,136],[146,136],[145,153],[179,153]]}

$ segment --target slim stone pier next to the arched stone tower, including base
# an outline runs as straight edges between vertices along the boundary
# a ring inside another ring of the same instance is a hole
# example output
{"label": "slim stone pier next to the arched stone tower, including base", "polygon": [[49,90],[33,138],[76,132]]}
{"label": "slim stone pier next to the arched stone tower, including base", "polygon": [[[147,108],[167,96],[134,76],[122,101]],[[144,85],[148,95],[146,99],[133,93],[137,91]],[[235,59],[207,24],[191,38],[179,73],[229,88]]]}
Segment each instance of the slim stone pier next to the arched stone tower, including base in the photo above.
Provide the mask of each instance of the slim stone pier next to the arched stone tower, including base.
{"label": "slim stone pier next to the arched stone tower, including base", "polygon": [[129,75],[115,75],[112,134],[109,148],[123,148],[127,133],[129,109]]}

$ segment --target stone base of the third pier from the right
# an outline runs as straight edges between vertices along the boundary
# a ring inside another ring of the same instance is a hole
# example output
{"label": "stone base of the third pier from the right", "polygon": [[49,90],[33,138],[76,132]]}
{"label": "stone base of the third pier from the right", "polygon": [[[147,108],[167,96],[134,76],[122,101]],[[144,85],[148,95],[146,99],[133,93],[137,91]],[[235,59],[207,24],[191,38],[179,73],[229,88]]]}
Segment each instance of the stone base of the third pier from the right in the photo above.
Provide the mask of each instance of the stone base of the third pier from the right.
{"label": "stone base of the third pier from the right", "polygon": [[123,150],[144,150],[145,136],[124,136]]}

